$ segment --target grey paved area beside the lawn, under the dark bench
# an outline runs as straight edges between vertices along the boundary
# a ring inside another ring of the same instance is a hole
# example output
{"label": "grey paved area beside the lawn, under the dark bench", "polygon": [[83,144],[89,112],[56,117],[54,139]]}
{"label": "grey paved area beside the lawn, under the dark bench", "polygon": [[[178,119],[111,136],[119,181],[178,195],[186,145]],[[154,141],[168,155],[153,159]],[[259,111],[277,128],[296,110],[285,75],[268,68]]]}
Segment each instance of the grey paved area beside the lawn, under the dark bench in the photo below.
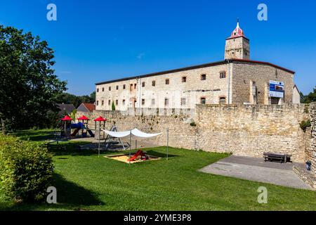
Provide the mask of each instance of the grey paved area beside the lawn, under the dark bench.
{"label": "grey paved area beside the lawn, under the dark bench", "polygon": [[265,162],[262,158],[249,158],[232,155],[208,165],[199,171],[232,176],[239,179],[311,190],[292,170],[298,163]]}

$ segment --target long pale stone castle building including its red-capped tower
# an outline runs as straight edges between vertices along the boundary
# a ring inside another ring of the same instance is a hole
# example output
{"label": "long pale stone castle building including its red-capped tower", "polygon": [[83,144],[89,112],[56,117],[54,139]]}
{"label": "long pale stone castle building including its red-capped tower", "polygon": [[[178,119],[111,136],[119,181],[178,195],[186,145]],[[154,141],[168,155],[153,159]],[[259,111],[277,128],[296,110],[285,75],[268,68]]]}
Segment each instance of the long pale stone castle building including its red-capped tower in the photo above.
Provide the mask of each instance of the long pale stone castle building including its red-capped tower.
{"label": "long pale stone castle building including its red-capped tower", "polygon": [[239,27],[226,39],[225,60],[96,84],[96,110],[195,108],[196,104],[300,103],[294,71],[250,60]]}

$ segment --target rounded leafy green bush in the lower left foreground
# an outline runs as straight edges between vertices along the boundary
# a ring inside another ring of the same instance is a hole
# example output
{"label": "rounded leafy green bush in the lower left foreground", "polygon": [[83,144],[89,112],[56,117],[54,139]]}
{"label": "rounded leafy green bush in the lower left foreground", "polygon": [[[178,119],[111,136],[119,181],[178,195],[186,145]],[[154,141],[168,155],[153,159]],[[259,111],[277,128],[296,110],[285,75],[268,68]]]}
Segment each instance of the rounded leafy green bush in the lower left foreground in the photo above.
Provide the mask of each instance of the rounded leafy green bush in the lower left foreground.
{"label": "rounded leafy green bush in the lower left foreground", "polygon": [[8,197],[43,200],[52,177],[52,157],[43,144],[0,135],[0,188]]}

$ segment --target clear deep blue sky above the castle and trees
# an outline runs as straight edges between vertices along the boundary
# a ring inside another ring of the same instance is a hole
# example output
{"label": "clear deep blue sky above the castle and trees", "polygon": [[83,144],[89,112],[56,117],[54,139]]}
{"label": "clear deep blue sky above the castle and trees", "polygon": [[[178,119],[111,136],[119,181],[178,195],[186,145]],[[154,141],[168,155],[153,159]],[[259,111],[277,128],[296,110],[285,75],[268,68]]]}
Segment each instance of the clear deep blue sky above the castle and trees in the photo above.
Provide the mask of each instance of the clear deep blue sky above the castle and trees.
{"label": "clear deep blue sky above the castle and trees", "polygon": [[[57,6],[57,21],[46,6]],[[258,4],[268,21],[257,19]],[[55,73],[68,92],[90,94],[96,82],[223,60],[236,18],[251,40],[251,59],[296,71],[298,89],[316,85],[316,1],[0,2],[0,23],[33,34],[55,50]]]}

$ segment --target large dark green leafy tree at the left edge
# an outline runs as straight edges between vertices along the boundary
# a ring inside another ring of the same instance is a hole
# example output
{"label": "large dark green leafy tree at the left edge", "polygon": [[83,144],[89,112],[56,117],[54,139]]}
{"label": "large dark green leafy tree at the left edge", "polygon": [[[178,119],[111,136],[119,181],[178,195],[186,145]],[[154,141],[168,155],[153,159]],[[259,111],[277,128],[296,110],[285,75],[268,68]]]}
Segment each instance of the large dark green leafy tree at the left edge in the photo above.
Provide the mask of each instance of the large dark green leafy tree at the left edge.
{"label": "large dark green leafy tree at the left edge", "polygon": [[46,41],[14,27],[0,25],[0,119],[6,126],[27,128],[56,111],[58,96],[66,90],[54,74],[53,49]]}

